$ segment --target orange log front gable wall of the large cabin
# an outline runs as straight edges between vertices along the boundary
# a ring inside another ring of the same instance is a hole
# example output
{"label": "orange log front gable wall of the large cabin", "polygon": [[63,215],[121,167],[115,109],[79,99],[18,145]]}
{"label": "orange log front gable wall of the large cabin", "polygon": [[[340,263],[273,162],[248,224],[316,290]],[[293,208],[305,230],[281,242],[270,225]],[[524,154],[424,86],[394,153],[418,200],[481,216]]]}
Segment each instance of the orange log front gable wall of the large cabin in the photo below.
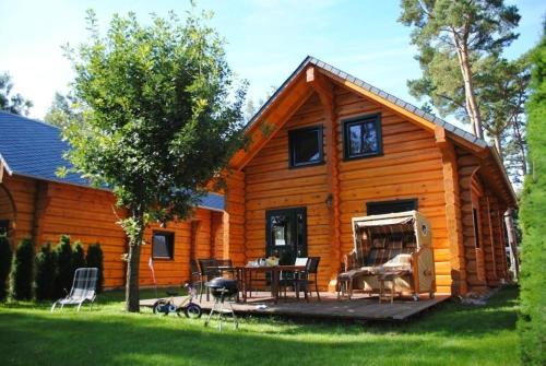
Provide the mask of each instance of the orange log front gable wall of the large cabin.
{"label": "orange log front gable wall of the large cabin", "polygon": [[[381,114],[383,156],[339,162],[341,251],[353,249],[351,220],[366,214],[367,201],[418,199],[419,211],[431,222],[439,292],[451,291],[450,245],[447,234],[443,166],[434,133],[404,120],[380,105],[336,86],[336,149],[343,156],[341,120],[365,114]],[[312,95],[269,143],[245,167],[246,255],[265,251],[265,210],[307,206],[308,252],[320,256],[319,282],[325,290],[339,263],[331,260],[325,165],[288,167],[288,133],[295,128],[322,125],[324,109]],[[328,129],[329,126],[324,126]],[[325,142],[324,142],[325,143]],[[324,158],[328,160],[328,146]]]}

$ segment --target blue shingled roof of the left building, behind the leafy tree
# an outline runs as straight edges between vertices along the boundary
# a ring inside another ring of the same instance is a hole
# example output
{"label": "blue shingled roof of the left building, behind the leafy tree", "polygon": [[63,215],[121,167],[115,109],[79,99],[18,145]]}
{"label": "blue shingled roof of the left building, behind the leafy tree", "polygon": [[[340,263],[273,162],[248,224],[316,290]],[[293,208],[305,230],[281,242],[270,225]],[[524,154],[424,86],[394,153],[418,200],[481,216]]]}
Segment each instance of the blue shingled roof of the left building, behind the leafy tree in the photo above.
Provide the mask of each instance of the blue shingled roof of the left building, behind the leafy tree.
{"label": "blue shingled roof of the left building, behind the leafy tree", "polygon": [[[61,131],[57,127],[0,110],[0,160],[8,174],[90,186],[78,174],[71,173],[63,178],[55,174],[59,167],[72,167],[62,157],[68,150],[70,145],[62,141]],[[209,193],[199,206],[224,210],[224,196]]]}

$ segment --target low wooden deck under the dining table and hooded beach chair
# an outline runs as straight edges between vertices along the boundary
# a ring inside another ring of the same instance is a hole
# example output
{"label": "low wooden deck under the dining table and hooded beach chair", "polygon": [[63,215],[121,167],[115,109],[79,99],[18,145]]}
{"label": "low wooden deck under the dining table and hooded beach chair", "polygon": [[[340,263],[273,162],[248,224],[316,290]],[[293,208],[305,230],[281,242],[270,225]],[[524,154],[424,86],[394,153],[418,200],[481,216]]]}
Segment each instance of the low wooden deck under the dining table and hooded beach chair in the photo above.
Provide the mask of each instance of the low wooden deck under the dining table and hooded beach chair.
{"label": "low wooden deck under the dining table and hooded beach chair", "polygon": [[[321,302],[317,297],[312,297],[309,303],[304,299],[297,300],[294,297],[286,299],[281,298],[277,304],[273,304],[271,294],[260,292],[253,294],[246,304],[234,304],[234,310],[238,315],[274,315],[292,318],[316,318],[316,319],[340,319],[340,320],[406,320],[416,316],[441,302],[447,300],[450,296],[437,294],[435,298],[422,296],[419,302],[414,302],[411,298],[397,298],[393,304],[379,304],[377,297],[368,297],[361,294],[355,294],[353,299],[341,299],[333,293],[321,293]],[[183,299],[183,296],[176,297],[178,304]],[[143,299],[141,306],[152,307],[156,299]],[[201,307],[207,311],[211,309],[213,302],[205,300],[199,303]]]}

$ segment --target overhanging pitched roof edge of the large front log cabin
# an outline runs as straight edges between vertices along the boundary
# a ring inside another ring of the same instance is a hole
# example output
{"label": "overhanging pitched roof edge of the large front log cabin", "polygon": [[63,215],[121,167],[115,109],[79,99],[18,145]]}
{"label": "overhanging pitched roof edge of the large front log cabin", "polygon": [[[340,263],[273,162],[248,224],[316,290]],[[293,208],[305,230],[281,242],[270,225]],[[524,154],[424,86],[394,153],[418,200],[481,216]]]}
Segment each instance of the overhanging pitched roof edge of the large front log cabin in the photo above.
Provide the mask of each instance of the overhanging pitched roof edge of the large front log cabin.
{"label": "overhanging pitched roof edge of the large front log cabin", "polygon": [[[302,79],[301,78],[302,73],[310,67],[318,68],[322,74],[324,74],[328,78],[331,78],[337,84],[344,85],[357,94],[364,95],[381,105],[384,105],[385,107],[391,108],[394,111],[406,116],[410,120],[417,121],[419,125],[426,127],[429,130],[434,131],[436,130],[436,128],[443,129],[446,131],[446,134],[449,138],[451,138],[455,143],[466,149],[470,149],[474,153],[477,154],[485,153],[489,155],[494,164],[500,170],[500,175],[502,177],[501,179],[503,180],[503,185],[506,186],[506,190],[510,196],[511,201],[513,202],[514,205],[517,204],[518,201],[517,194],[513,191],[512,184],[508,178],[508,175],[499,157],[499,154],[497,150],[494,146],[489,146],[485,140],[479,139],[476,135],[456,126],[453,126],[437,116],[434,116],[429,113],[426,113],[417,108],[411,103],[402,101],[401,98],[397,98],[392,94],[389,94],[371,84],[368,84],[367,82],[358,78],[355,78],[311,56],[307,56],[304,59],[304,61],[296,68],[296,70],[294,70],[294,72],[288,76],[288,79],[286,79],[286,81],[281,85],[281,87],[278,87],[275,91],[275,93],[268,99],[268,102],[258,110],[258,113],[247,123],[247,126],[245,127],[247,134],[251,134],[252,130],[259,129],[263,121],[266,121],[269,117],[274,116],[272,109],[274,108],[275,105],[278,105],[281,103],[288,104],[286,101],[281,101],[282,98],[286,99],[285,95],[288,94],[287,92],[288,90],[290,90],[290,93],[298,94],[300,98],[306,98],[310,95],[309,93],[306,94],[305,92],[302,92],[301,86],[299,86],[299,90],[295,91],[296,87],[298,87],[298,83],[301,84],[300,80]],[[301,104],[299,104],[299,106]],[[293,109],[294,111],[295,109],[294,106],[298,106],[298,104],[292,102],[292,105],[288,108]],[[289,114],[286,114],[286,116],[289,116]],[[283,119],[283,117],[278,116],[275,117],[277,119]],[[264,130],[268,130],[268,128],[265,128]],[[234,155],[234,158],[232,158],[233,167],[235,167],[236,169],[241,169],[249,162],[248,156],[253,156],[253,154],[256,154],[256,152],[263,146],[263,143],[268,141],[270,133],[271,131],[269,132],[261,131],[261,137],[258,139],[260,141],[258,142],[251,141],[249,149]]]}

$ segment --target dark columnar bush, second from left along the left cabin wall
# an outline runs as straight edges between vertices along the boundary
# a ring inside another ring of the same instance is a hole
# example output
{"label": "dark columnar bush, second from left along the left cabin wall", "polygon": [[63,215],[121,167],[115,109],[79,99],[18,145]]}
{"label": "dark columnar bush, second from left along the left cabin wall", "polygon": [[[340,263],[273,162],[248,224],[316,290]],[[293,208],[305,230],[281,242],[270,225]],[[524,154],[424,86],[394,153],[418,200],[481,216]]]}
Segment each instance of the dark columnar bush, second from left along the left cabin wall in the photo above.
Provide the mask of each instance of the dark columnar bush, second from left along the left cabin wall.
{"label": "dark columnar bush, second from left along the left cabin wall", "polygon": [[34,243],[23,239],[15,250],[11,265],[10,292],[17,300],[28,300],[33,297],[34,280]]}

